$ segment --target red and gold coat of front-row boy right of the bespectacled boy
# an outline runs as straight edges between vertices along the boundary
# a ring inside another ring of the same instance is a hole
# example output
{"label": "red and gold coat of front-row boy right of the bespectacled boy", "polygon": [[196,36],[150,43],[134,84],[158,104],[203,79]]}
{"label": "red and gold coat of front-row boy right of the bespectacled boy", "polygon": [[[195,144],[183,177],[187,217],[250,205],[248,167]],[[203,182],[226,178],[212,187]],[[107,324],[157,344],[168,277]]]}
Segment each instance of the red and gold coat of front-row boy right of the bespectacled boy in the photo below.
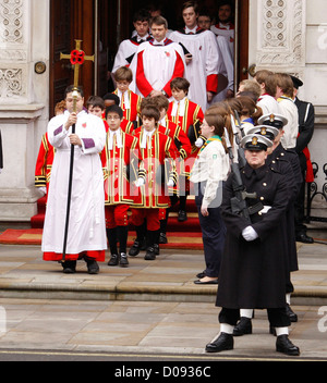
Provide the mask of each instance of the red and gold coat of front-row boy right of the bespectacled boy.
{"label": "red and gold coat of front-row boy right of the bespectacled boy", "polygon": [[169,178],[177,181],[174,158],[175,147],[172,139],[156,131],[152,135],[146,148],[142,148],[144,128],[135,133],[137,138],[136,153],[138,156],[138,177],[145,180],[145,185],[134,185],[133,208],[168,208],[170,198],[167,182]]}

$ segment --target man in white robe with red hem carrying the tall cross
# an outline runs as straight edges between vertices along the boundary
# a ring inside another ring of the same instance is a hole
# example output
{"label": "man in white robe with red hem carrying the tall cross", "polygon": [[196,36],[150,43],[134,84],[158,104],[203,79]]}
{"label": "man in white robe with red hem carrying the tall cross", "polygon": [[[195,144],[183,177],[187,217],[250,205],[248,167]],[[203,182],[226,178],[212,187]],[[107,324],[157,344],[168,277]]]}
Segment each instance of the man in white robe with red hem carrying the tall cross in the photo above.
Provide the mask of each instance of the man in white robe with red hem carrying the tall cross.
{"label": "man in white robe with red hem carrying the tall cross", "polygon": [[[41,250],[44,260],[62,261],[70,175],[71,145],[74,146],[71,209],[63,272],[75,272],[84,258],[88,273],[99,271],[107,249],[104,175],[99,152],[106,143],[101,119],[83,109],[80,89],[73,112],[73,87],[65,91],[66,111],[48,124],[50,144],[56,148],[46,210]],[[75,124],[75,134],[72,125]]]}

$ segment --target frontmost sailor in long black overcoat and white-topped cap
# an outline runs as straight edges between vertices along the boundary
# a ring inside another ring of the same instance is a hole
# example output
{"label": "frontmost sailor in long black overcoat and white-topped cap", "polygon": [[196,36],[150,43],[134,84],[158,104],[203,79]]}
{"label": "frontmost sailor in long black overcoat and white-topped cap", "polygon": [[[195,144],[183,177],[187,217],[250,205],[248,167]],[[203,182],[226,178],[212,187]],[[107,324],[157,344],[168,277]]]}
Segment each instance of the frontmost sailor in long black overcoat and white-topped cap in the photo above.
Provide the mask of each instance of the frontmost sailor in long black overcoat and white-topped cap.
{"label": "frontmost sailor in long black overcoat and white-topped cap", "polygon": [[263,209],[250,215],[251,222],[232,209],[234,190],[231,174],[221,203],[227,236],[216,299],[216,306],[222,308],[219,313],[220,335],[206,345],[206,351],[233,348],[232,333],[241,308],[266,308],[270,326],[276,329],[276,350],[300,355],[299,348],[288,337],[291,322],[286,309],[283,230],[290,196],[287,177],[266,163],[267,148],[272,146],[268,138],[247,135],[241,144],[247,161],[241,173],[243,185],[247,193],[256,194],[256,198],[247,200],[249,211],[258,202],[263,203]]}

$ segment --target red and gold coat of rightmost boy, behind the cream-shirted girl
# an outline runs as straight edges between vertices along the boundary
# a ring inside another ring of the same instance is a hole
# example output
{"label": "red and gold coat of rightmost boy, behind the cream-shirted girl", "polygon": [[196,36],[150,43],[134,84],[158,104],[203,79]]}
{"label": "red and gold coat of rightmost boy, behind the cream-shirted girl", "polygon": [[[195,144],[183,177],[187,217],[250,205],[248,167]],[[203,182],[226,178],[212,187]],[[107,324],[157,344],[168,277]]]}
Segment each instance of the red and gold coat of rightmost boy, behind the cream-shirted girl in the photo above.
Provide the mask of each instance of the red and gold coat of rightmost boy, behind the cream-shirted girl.
{"label": "red and gold coat of rightmost boy, behind the cream-shirted girl", "polygon": [[198,148],[194,145],[194,143],[199,135],[197,126],[203,123],[204,112],[197,103],[189,100],[187,98],[184,102],[183,115],[172,115],[172,107],[173,102],[170,102],[167,111],[168,119],[182,127],[192,145],[191,153],[184,158],[184,163],[181,164],[179,174],[190,175],[198,153]]}

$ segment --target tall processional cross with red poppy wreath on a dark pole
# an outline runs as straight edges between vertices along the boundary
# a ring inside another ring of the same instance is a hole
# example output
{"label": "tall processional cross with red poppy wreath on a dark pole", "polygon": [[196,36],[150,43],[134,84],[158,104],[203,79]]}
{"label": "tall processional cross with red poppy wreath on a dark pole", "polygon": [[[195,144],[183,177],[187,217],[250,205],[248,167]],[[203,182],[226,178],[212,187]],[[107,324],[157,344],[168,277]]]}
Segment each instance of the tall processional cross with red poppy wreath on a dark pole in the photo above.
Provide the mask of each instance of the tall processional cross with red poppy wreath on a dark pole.
{"label": "tall processional cross with red poppy wreath on a dark pole", "polygon": [[[82,40],[75,40],[75,49],[72,50],[71,54],[60,53],[60,60],[70,60],[71,64],[74,66],[74,89],[73,89],[73,112],[76,112],[76,102],[78,98],[78,81],[80,81],[80,66],[86,61],[94,62],[94,55],[86,55],[83,50],[81,50]],[[72,126],[72,133],[75,134],[75,124]],[[72,197],[72,183],[73,183],[73,170],[74,170],[74,145],[71,146],[71,163],[70,163],[70,178],[69,178],[69,190],[68,190],[68,202],[66,202],[66,217],[64,226],[64,237],[63,237],[63,250],[62,250],[62,263],[65,261],[65,249],[66,239],[69,231],[70,221],[70,210],[71,210],[71,197]]]}

